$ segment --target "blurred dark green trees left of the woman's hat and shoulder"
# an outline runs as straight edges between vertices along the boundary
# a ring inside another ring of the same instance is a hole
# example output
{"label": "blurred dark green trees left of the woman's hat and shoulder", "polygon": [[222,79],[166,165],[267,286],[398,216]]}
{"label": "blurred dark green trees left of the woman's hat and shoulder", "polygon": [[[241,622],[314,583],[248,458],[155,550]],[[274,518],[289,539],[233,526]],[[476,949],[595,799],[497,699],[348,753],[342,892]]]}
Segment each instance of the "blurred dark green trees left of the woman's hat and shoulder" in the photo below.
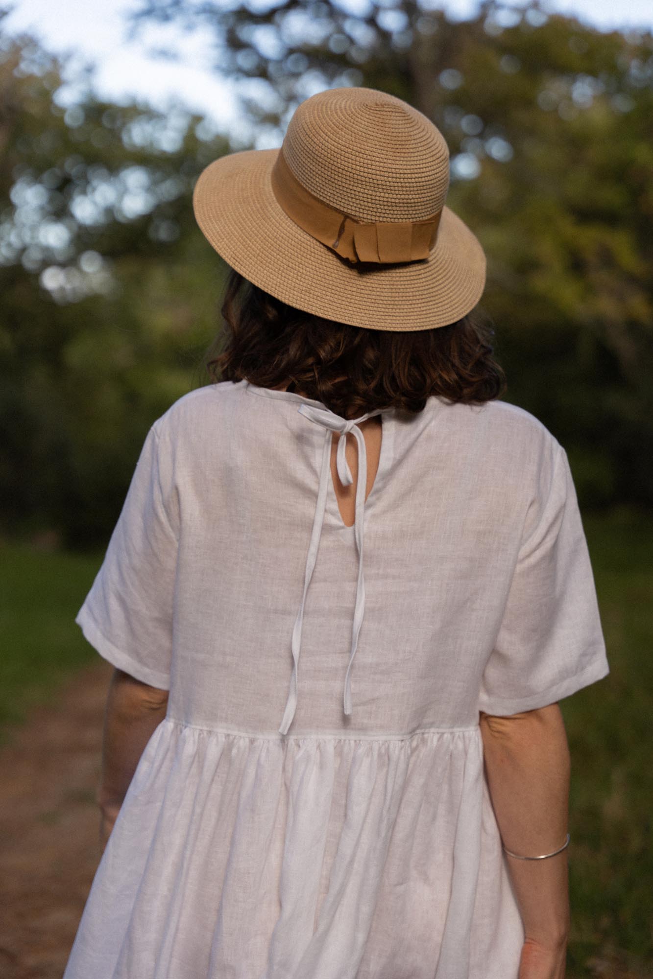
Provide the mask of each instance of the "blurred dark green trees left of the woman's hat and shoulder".
{"label": "blurred dark green trees left of the woman's hat and shoulder", "polygon": [[190,191],[228,144],[178,107],[96,99],[88,72],[67,107],[61,69],[0,35],[0,513],[72,546],[106,542],[216,332]]}

